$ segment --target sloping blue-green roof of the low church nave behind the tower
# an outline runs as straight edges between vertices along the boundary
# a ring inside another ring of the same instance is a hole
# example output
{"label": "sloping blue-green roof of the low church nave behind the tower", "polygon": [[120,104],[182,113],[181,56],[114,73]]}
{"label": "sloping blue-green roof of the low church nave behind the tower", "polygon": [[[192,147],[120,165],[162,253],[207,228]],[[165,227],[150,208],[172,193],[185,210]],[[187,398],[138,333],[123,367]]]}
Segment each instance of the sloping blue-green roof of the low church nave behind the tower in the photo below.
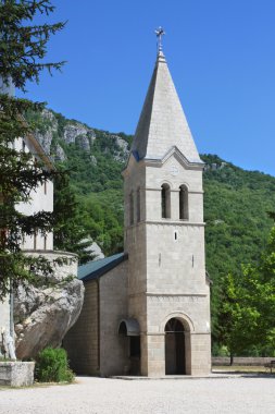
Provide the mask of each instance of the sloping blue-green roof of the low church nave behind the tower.
{"label": "sloping blue-green roof of the low church nave behind the tower", "polygon": [[98,279],[127,258],[126,253],[118,253],[100,260],[88,261],[78,267],[77,278],[83,281]]}

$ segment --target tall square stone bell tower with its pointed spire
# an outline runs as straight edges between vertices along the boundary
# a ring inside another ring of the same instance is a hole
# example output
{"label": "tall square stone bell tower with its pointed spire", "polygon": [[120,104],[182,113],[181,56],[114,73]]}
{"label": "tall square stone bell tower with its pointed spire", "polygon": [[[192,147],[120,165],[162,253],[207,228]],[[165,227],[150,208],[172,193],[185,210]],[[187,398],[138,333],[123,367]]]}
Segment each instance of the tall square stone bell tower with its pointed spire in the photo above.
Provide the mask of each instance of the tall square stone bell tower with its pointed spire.
{"label": "tall square stone bell tower with its pointed spire", "polygon": [[211,369],[202,170],[160,47],[123,173],[128,317],[140,327],[141,375]]}

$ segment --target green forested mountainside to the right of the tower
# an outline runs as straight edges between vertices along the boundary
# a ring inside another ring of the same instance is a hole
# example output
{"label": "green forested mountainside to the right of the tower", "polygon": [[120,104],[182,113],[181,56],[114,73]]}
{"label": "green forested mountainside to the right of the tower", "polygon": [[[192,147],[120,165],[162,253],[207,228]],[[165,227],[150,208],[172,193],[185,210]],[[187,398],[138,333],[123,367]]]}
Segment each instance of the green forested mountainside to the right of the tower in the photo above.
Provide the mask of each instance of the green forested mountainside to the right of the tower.
{"label": "green forested mountainside to the right of the tower", "polygon": [[266,246],[274,210],[275,178],[245,171],[230,162],[223,168],[217,156],[203,155],[207,269],[213,280],[211,294],[214,345],[222,345],[221,309],[227,301],[224,281],[228,273],[242,275],[242,265],[257,266]]}

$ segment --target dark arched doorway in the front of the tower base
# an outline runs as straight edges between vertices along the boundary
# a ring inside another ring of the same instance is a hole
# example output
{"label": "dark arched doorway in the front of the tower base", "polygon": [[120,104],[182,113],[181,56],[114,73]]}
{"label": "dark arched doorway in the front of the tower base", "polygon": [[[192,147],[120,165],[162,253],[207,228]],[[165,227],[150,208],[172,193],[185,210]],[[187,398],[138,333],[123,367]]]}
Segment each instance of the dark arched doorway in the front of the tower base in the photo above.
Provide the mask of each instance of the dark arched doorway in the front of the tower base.
{"label": "dark arched doorway in the front of the tower base", "polygon": [[165,374],[186,374],[185,328],[177,318],[165,325]]}

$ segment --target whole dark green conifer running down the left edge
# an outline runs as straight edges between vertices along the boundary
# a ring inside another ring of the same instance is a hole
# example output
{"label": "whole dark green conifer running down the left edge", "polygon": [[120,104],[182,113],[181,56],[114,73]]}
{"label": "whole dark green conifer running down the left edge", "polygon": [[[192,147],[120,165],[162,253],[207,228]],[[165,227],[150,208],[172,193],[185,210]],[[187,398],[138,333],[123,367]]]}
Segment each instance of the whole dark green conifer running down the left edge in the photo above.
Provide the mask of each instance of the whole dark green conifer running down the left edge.
{"label": "whole dark green conifer running down the left edge", "polygon": [[[34,24],[38,15],[48,15],[54,7],[49,0],[0,0],[0,78],[25,92],[28,81],[38,83],[42,70],[60,70],[63,62],[45,62],[47,42],[64,23]],[[16,209],[27,203],[30,192],[53,172],[33,161],[30,154],[14,149],[15,139],[32,133],[24,121],[28,110],[41,110],[43,105],[0,95],[0,297],[20,282],[35,282],[41,271],[51,271],[42,258],[25,256],[21,251],[23,234],[43,233],[52,228],[52,216],[41,211],[24,216]]]}

